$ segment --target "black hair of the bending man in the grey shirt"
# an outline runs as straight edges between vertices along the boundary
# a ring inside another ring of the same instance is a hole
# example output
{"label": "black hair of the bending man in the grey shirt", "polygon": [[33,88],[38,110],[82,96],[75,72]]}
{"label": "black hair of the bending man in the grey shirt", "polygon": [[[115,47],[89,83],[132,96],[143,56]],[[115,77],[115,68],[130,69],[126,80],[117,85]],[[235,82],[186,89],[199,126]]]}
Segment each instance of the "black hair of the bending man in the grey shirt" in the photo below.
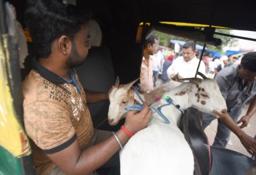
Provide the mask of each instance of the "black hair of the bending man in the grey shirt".
{"label": "black hair of the bending man in the grey shirt", "polygon": [[248,52],[241,60],[241,65],[248,71],[256,72],[256,52]]}

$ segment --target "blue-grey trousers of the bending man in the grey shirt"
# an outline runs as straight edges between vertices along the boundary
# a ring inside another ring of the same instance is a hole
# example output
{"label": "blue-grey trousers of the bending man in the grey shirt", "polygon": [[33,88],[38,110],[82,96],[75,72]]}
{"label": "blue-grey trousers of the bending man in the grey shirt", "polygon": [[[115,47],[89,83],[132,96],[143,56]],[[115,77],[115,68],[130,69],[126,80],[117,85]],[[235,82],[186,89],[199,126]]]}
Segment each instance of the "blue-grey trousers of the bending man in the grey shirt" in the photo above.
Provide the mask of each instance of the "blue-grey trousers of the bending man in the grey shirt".
{"label": "blue-grey trousers of the bending man in the grey shirt", "polygon": [[[238,120],[238,117],[240,116],[242,109],[238,109],[236,114],[230,115],[232,120],[236,122]],[[216,119],[217,117],[212,114],[207,114],[205,112],[202,112],[203,114],[203,130],[210,125],[212,120]],[[215,147],[226,147],[226,144],[228,143],[230,137],[230,129],[226,127],[219,119],[218,119],[218,129],[216,133],[216,137],[214,139],[214,143],[212,144]]]}

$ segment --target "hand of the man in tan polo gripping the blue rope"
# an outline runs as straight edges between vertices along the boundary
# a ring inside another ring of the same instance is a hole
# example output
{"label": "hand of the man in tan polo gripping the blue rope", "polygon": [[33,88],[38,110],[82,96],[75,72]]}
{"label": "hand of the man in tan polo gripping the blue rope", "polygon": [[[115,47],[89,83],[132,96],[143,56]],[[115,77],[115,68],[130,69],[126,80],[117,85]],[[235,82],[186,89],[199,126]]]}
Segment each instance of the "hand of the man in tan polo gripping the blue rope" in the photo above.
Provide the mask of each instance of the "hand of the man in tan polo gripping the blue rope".
{"label": "hand of the man in tan polo gripping the blue rope", "polygon": [[151,115],[152,110],[150,110],[148,104],[144,104],[141,112],[129,111],[125,119],[125,128],[135,134],[137,131],[148,127]]}

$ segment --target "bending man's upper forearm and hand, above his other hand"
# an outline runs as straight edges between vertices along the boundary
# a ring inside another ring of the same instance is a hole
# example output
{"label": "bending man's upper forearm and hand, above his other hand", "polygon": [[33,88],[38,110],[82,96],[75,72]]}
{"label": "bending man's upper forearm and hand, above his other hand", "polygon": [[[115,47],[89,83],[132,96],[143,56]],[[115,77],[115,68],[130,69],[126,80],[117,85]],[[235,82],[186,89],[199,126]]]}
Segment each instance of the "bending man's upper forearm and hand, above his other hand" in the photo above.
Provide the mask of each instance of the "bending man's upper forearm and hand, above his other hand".
{"label": "bending man's upper forearm and hand, above his other hand", "polygon": [[255,112],[256,112],[256,96],[253,97],[253,100],[251,101],[245,116],[242,116],[242,118],[237,122],[237,124],[242,122],[242,125],[240,126],[241,129],[244,127],[247,127],[250,118],[253,116],[253,114],[255,114]]}

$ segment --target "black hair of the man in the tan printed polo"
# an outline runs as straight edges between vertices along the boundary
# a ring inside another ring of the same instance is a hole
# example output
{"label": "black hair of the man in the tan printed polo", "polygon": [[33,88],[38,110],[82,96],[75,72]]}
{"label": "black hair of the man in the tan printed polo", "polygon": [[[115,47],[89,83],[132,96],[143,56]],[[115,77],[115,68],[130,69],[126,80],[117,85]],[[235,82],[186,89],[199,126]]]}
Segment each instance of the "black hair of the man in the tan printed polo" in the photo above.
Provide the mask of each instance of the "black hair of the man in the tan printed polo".
{"label": "black hair of the man in the tan printed polo", "polygon": [[37,56],[49,57],[53,41],[63,35],[73,40],[88,18],[75,6],[65,5],[61,0],[28,1],[25,22],[36,46]]}

